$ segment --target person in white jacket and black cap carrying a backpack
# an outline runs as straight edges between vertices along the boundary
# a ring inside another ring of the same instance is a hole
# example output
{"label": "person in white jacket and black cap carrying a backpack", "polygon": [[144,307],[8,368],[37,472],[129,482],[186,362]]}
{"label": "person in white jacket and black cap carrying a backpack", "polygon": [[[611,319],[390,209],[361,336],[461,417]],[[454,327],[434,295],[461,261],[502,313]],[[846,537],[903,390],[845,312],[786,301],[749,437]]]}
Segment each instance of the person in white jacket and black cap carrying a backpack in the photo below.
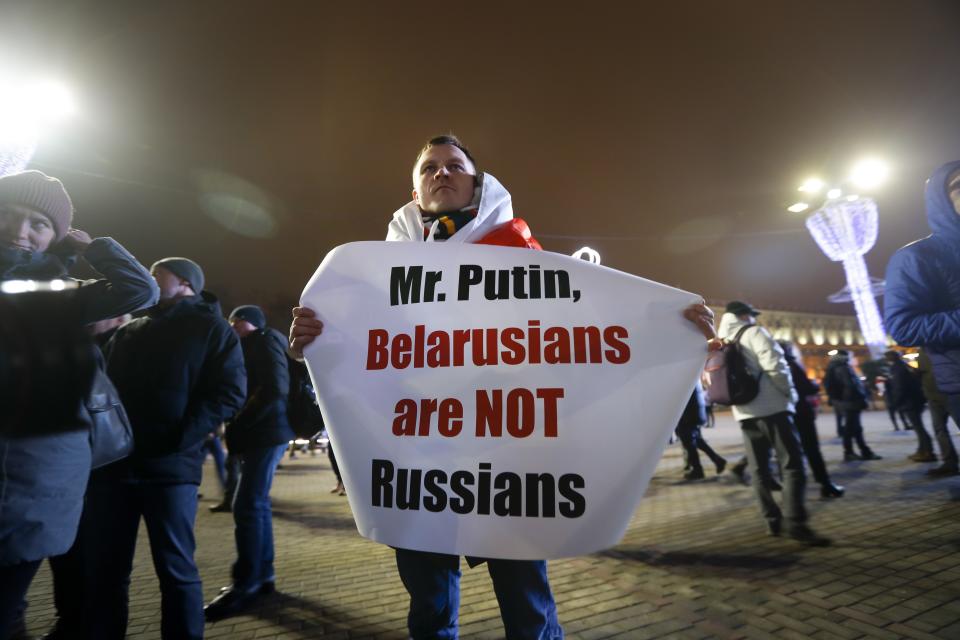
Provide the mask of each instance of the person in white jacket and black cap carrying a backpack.
{"label": "person in white jacket and black cap carrying a backpack", "polygon": [[[752,305],[735,300],[727,305],[717,331],[724,340],[739,337],[747,370],[759,382],[759,392],[753,400],[733,405],[733,417],[743,431],[753,489],[770,535],[779,536],[785,529],[788,536],[799,542],[825,546],[830,540],[807,525],[803,454],[793,425],[797,391],[783,349],[766,329],[757,325],[758,315],[760,311]],[[782,508],[770,491],[771,449],[783,476]]]}

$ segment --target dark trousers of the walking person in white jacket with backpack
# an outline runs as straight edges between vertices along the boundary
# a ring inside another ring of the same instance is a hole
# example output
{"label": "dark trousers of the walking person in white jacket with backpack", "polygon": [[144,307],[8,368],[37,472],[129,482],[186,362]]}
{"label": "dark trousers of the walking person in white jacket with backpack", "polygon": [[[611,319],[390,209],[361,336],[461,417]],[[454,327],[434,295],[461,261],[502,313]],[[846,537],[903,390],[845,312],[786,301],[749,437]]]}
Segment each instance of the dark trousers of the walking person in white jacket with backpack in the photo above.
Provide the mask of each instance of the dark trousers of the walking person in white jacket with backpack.
{"label": "dark trousers of the walking person in white jacket with backpack", "polygon": [[[793,416],[783,411],[762,418],[750,418],[740,421],[743,431],[743,445],[750,461],[750,473],[753,475],[753,490],[760,503],[760,512],[768,523],[786,521],[791,528],[807,521],[807,511],[803,506],[803,490],[806,477],[803,473],[803,454],[793,429]],[[770,485],[770,450],[777,456],[783,475],[783,508],[773,498]]]}

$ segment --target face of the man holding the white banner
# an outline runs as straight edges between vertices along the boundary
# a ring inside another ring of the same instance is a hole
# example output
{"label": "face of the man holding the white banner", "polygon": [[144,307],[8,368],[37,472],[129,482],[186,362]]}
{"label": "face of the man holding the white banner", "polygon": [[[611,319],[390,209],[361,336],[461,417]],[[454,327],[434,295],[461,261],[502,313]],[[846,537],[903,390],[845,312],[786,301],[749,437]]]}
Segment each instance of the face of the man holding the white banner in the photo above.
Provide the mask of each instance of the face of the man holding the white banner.
{"label": "face of the man holding the white banner", "polygon": [[470,204],[477,170],[450,144],[428,147],[413,172],[413,199],[424,213],[457,211]]}

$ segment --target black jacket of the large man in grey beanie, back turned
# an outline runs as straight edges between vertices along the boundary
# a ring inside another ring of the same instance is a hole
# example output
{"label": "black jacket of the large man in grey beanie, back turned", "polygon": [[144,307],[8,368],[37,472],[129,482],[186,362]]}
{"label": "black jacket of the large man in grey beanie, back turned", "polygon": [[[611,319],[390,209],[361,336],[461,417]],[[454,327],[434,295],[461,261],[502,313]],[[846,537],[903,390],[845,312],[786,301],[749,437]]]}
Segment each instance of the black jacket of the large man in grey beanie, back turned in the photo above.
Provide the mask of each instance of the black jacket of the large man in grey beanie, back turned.
{"label": "black jacket of the large man in grey beanie, back turned", "polygon": [[210,293],[153,307],[104,349],[133,425],[134,451],[94,481],[200,484],[207,435],[243,405],[240,341]]}

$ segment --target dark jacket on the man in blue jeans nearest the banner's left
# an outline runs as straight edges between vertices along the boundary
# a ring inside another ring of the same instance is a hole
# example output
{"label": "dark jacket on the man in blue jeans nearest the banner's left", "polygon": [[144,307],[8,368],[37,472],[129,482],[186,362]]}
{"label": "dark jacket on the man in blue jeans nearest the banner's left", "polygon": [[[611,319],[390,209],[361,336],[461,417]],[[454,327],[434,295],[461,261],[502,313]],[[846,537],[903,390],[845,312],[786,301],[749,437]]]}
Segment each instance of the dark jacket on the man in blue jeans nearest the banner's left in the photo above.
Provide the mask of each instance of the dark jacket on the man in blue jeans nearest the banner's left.
{"label": "dark jacket on the man in blue jeans nearest the banner's left", "polygon": [[287,340],[267,327],[244,336],[240,346],[247,369],[247,402],[227,423],[227,447],[231,453],[243,453],[287,443],[293,439],[287,420]]}

